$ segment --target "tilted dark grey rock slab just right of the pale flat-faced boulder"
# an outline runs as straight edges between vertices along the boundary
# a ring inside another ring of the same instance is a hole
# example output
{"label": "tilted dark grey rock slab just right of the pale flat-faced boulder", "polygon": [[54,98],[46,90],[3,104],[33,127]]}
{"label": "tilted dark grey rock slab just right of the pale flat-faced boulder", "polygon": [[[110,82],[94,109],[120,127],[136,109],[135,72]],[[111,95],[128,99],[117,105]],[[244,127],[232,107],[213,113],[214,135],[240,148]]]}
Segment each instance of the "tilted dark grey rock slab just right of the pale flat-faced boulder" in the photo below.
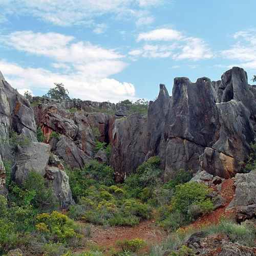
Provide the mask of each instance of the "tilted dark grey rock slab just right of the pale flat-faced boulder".
{"label": "tilted dark grey rock slab just right of the pale flat-faced boulder", "polygon": [[91,160],[91,157],[80,150],[72,139],[64,135],[60,136],[55,152],[72,168],[82,168],[84,164]]}

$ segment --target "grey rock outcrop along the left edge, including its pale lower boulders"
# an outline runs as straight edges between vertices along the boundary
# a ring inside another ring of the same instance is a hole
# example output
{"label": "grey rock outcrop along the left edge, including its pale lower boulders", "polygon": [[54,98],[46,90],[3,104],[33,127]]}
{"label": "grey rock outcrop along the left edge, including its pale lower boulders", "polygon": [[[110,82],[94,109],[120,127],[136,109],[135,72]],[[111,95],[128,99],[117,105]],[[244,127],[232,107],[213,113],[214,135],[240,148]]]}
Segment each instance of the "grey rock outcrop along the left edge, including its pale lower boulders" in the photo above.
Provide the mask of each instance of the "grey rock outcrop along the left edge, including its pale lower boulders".
{"label": "grey rock outcrop along the left edge, including its pale lower boulders", "polygon": [[[35,115],[30,102],[10,86],[1,72],[0,97],[0,194],[7,194],[4,162],[10,161],[11,176],[17,184],[22,184],[30,172],[36,172],[54,184],[54,193],[61,207],[72,204],[69,179],[60,165],[54,166],[50,179],[47,175],[53,168],[50,162],[52,153],[49,144],[37,141]],[[45,120],[48,117],[42,115],[40,118]],[[70,131],[71,128],[67,127],[65,125],[65,129]],[[18,143],[21,138],[26,143]]]}

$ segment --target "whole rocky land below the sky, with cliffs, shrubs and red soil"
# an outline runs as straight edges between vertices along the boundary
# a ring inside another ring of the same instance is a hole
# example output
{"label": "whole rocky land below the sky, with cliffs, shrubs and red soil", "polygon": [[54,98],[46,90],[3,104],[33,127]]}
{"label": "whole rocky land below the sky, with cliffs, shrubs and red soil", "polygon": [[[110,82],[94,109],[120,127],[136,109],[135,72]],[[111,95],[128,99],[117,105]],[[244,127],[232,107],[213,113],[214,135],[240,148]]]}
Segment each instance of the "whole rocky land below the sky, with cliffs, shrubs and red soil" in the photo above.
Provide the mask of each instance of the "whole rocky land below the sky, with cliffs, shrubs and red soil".
{"label": "whole rocky land below the sky, with cliffs, shrubs and red soil", "polygon": [[0,254],[256,255],[256,87],[155,101],[20,95],[0,72]]}

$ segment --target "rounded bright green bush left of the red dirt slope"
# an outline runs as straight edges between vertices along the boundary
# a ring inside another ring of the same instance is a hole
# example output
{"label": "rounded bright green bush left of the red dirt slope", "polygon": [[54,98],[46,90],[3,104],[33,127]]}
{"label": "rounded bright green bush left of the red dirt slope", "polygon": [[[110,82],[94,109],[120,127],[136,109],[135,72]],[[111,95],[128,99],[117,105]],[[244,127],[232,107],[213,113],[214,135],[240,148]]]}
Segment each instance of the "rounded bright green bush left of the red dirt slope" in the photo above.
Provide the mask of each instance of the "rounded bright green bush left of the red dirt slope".
{"label": "rounded bright green bush left of the red dirt slope", "polygon": [[204,213],[211,211],[214,206],[206,197],[210,189],[197,182],[187,182],[176,186],[175,195],[172,199],[172,210],[184,215],[186,220],[190,220],[188,214],[189,206],[200,205]]}

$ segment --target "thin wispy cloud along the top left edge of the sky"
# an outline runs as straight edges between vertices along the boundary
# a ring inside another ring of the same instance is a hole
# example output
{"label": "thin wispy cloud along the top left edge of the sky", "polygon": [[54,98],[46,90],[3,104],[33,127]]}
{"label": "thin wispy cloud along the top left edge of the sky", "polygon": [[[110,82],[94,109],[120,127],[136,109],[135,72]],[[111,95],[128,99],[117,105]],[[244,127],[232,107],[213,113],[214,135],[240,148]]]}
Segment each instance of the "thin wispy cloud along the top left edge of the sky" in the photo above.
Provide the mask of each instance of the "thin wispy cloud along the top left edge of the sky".
{"label": "thin wispy cloud along the top left edge of the sky", "polygon": [[[136,18],[143,10],[162,0],[1,0],[2,13],[32,15],[59,26],[93,23],[93,18],[105,13]],[[134,15],[135,14],[135,15]]]}

